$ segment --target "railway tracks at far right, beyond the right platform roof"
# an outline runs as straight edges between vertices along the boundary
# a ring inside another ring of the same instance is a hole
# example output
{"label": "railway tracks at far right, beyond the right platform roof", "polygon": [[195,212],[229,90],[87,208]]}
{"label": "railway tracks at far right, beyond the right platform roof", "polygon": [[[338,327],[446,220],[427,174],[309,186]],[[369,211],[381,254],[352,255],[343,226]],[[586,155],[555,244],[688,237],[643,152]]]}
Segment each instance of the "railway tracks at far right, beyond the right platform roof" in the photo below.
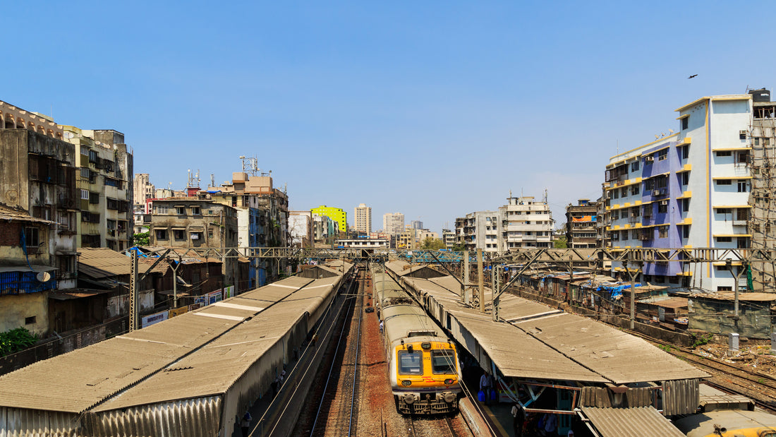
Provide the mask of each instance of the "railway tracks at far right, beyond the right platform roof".
{"label": "railway tracks at far right, beyond the right platform roof", "polygon": [[757,407],[776,413],[776,377],[767,373],[733,366],[728,362],[699,355],[693,349],[671,345],[657,338],[632,333],[653,344],[662,345],[664,351],[679,359],[690,362],[712,375],[706,380],[709,385],[733,394],[749,397]]}

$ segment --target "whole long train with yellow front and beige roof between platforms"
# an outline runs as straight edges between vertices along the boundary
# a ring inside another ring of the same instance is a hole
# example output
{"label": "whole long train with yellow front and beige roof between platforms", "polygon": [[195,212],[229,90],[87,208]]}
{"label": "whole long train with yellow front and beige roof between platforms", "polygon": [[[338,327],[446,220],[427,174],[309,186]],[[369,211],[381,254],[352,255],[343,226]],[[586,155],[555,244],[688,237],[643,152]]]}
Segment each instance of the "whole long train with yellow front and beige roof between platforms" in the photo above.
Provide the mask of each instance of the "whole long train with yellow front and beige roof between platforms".
{"label": "whole long train with yellow front and beige roof between platforms", "polygon": [[401,287],[372,268],[396,408],[402,414],[457,411],[461,394],[456,345]]}

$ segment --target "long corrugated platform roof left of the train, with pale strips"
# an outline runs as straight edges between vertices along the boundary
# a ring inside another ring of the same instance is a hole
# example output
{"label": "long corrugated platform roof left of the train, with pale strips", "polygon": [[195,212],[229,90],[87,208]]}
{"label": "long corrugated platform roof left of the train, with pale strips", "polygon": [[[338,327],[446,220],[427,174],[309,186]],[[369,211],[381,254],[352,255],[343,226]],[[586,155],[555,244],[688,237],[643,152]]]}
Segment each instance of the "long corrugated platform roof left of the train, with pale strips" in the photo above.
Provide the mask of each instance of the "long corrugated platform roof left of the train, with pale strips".
{"label": "long corrugated platform roof left of the train, with pale strips", "polygon": [[[339,279],[282,279],[36,362],[0,376],[0,406],[81,413],[101,403],[95,411],[223,393]],[[261,314],[267,307],[272,310]]]}

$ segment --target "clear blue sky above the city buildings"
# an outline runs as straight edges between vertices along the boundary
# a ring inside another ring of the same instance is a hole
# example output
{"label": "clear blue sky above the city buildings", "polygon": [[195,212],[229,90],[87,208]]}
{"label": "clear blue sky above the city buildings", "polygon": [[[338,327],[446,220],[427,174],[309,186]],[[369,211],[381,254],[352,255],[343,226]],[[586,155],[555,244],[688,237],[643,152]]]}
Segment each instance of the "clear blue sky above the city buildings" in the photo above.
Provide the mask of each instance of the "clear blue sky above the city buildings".
{"label": "clear blue sky above the city buildings", "polygon": [[[136,172],[240,155],[290,206],[432,231],[510,190],[600,196],[611,155],[703,95],[774,89],[771,2],[8,2],[0,99],[116,129]],[[764,27],[765,26],[765,27]],[[697,74],[697,78],[688,79]]]}

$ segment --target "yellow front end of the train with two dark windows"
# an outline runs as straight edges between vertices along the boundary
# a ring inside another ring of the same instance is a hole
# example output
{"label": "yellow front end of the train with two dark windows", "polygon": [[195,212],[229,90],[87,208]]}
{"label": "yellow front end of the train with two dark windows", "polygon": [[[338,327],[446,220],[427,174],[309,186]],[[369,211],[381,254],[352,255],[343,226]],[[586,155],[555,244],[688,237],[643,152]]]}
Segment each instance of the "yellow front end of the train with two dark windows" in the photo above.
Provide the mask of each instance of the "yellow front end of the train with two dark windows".
{"label": "yellow front end of the train with two dark windows", "polygon": [[400,413],[457,410],[461,386],[455,345],[445,338],[409,337],[395,345],[394,353],[391,380]]}

